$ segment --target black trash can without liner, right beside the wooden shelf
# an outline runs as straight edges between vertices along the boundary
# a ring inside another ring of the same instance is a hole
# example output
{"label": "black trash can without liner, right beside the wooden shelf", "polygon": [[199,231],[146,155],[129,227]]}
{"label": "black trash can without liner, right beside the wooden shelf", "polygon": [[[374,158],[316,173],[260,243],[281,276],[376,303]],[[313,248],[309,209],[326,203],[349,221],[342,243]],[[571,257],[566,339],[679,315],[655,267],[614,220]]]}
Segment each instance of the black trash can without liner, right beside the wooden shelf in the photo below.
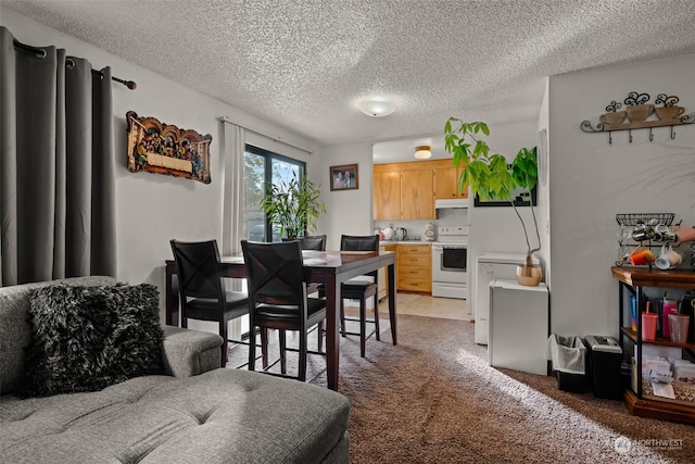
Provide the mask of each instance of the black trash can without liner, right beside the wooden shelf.
{"label": "black trash can without liner, right beside the wooden shelf", "polygon": [[586,336],[586,359],[594,397],[607,400],[622,399],[622,349],[612,337]]}

